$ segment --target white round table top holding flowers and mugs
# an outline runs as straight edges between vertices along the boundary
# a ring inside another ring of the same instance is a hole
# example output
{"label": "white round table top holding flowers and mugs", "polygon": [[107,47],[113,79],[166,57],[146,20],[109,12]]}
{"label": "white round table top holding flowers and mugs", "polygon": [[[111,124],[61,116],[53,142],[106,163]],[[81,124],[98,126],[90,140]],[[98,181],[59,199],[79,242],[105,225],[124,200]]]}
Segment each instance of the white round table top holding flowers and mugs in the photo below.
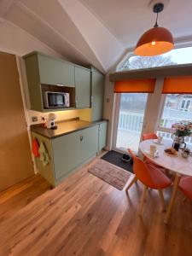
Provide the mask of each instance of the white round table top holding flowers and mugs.
{"label": "white round table top holding flowers and mugs", "polygon": [[[165,148],[172,148],[172,141],[163,140],[162,145],[154,143],[154,140],[146,140],[139,144],[141,152],[155,164],[162,166],[179,175],[192,176],[192,157],[183,158],[181,153],[177,156],[168,155],[164,152]],[[155,145],[159,151],[159,157],[149,154],[150,145]]]}

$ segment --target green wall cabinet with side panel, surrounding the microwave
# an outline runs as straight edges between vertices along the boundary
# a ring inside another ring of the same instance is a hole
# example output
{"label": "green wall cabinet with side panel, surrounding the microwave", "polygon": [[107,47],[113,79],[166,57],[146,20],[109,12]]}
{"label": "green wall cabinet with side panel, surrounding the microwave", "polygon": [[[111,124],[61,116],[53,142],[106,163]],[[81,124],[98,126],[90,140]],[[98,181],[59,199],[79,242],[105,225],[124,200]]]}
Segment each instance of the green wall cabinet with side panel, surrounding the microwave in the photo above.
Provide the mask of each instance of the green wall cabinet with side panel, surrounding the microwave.
{"label": "green wall cabinet with side panel, surrounding the microwave", "polygon": [[48,84],[49,90],[53,90],[51,86],[60,84],[65,85],[65,87],[60,86],[61,91],[66,88],[66,90],[72,90],[74,94],[74,65],[38,52],[32,52],[29,55],[25,55],[23,58],[26,64],[26,78],[31,109],[40,112],[63,110],[63,108],[44,108],[42,88],[45,84]]}

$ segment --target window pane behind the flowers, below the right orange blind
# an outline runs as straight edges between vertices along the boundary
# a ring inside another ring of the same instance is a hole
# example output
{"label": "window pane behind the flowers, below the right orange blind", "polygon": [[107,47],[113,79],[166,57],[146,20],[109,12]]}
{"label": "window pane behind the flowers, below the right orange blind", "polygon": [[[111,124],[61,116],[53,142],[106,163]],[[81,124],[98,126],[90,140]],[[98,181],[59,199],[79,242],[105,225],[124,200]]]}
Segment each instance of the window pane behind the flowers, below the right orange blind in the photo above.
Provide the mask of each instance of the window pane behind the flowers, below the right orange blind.
{"label": "window pane behind the flowers, below the right orange blind", "polygon": [[[164,107],[158,125],[158,135],[172,137],[172,125],[183,120],[192,120],[192,95],[168,94],[165,96]],[[186,138],[192,143],[192,137]]]}

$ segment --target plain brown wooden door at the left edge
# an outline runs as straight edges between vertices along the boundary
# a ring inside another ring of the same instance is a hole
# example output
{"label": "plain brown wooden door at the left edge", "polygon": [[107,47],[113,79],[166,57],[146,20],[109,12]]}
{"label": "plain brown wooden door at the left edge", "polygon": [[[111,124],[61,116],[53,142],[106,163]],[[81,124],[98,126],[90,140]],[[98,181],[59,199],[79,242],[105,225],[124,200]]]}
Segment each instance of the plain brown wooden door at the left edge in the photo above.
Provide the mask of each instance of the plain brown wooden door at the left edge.
{"label": "plain brown wooden door at the left edge", "polygon": [[0,52],[0,190],[32,176],[16,57]]}

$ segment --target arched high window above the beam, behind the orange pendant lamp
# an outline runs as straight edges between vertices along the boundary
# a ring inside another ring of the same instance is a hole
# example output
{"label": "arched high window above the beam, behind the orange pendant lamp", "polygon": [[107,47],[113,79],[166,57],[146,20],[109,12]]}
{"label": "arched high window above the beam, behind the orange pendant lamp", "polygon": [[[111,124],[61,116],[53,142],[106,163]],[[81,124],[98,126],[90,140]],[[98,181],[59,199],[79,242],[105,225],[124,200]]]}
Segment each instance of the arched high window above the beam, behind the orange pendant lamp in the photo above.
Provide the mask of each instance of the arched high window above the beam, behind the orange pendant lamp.
{"label": "arched high window above the beam, behind the orange pendant lamp", "polygon": [[119,65],[117,70],[123,71],[150,67],[166,67],[189,63],[192,63],[192,47],[185,47],[172,49],[172,51],[166,54],[152,57],[129,55],[128,58]]}

